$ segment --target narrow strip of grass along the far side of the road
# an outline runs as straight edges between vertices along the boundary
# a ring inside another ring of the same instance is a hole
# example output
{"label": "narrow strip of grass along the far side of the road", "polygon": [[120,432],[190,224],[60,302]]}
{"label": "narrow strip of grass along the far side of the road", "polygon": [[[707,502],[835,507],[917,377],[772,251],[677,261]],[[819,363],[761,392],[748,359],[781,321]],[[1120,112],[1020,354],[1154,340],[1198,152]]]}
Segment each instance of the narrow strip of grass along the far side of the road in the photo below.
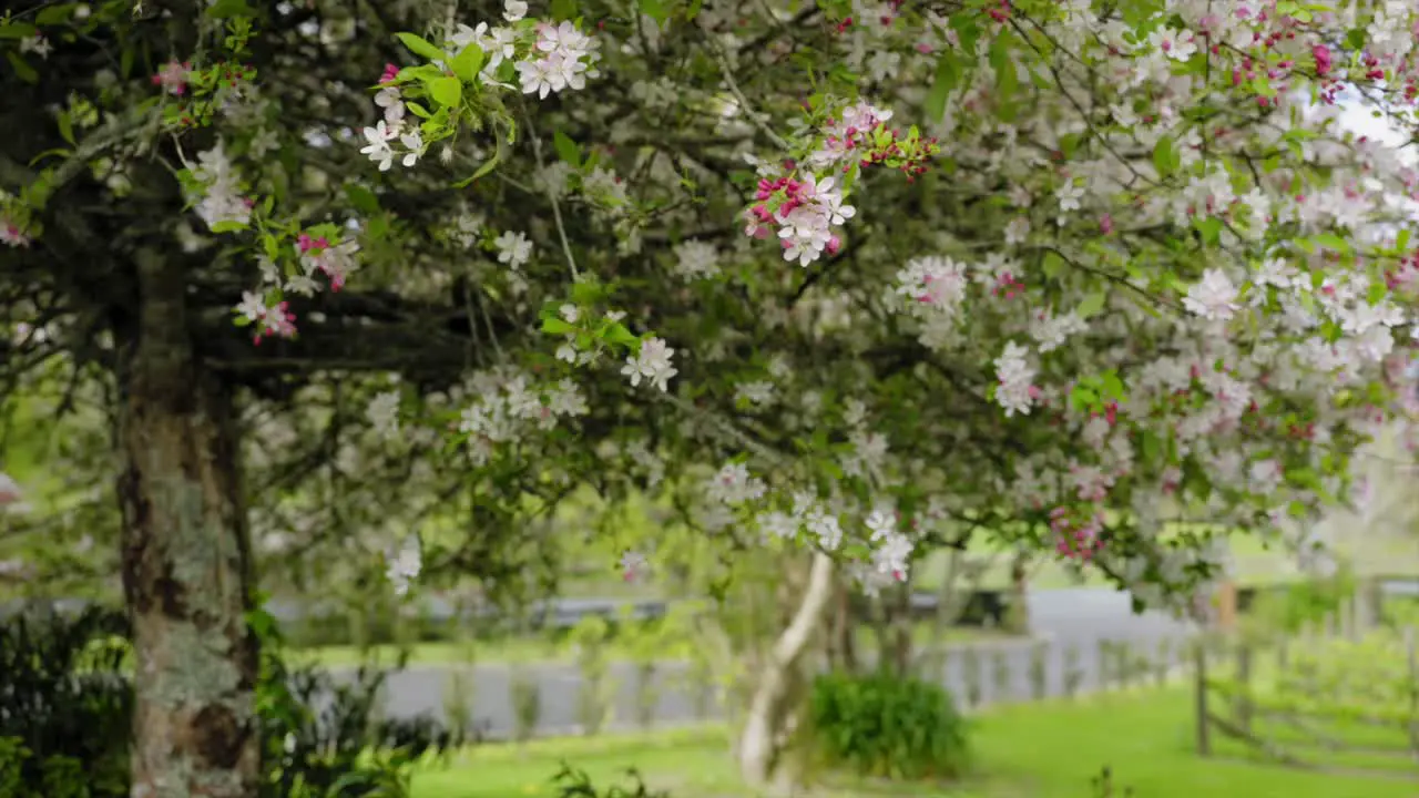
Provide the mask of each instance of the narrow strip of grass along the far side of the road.
{"label": "narrow strip of grass along the far side of the road", "polygon": [[[920,625],[915,630],[918,643],[928,639],[929,628]],[[946,645],[966,645],[988,640],[1009,640],[1010,635],[990,629],[952,628],[946,630]],[[609,643],[610,659],[633,659],[631,650],[617,642]],[[858,639],[858,650],[868,650],[871,639],[864,633]],[[660,659],[690,659],[692,643],[685,640],[667,642],[657,646]],[[373,646],[360,650],[358,646],[322,646],[314,649],[292,649],[289,659],[298,665],[319,665],[324,667],[349,667],[362,662],[390,665],[399,656],[399,646]],[[575,659],[572,646],[545,638],[504,638],[498,640],[433,642],[416,643],[409,649],[409,665],[508,665],[508,663],[570,663]]]}

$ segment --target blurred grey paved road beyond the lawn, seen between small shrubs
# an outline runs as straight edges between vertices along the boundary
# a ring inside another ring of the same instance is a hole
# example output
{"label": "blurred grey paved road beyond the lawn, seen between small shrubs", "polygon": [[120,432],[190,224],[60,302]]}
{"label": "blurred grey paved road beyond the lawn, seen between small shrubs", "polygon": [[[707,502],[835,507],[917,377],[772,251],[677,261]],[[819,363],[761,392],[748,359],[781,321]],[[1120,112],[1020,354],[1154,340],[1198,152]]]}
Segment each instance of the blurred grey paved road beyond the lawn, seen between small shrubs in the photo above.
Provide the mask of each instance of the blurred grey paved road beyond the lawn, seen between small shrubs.
{"label": "blurred grey paved road beyond the lawn, seen between small shrubs", "polygon": [[[1067,673],[1077,672],[1077,687],[1090,690],[1098,686],[1105,672],[1101,656],[1101,640],[1125,642],[1139,655],[1158,659],[1164,640],[1171,642],[1169,655],[1176,657],[1176,642],[1188,626],[1159,613],[1132,615],[1127,594],[1094,588],[1060,591],[1037,591],[1027,596],[1033,632],[1046,645],[1044,686],[1050,696],[1066,692]],[[982,703],[995,700],[1022,700],[1033,694],[1030,679],[1032,649],[1029,640],[1006,640],[978,646],[978,679]],[[1076,652],[1077,660],[1069,665]],[[1003,659],[1007,677],[996,682],[996,656]],[[966,670],[971,656],[952,650],[941,667],[942,683],[958,697],[968,694]],[[453,694],[451,682],[457,672],[465,674],[473,684],[470,718],[488,737],[507,737],[515,728],[511,701],[512,672],[507,666],[481,665],[457,666],[414,666],[393,673],[386,686],[386,707],[393,716],[414,716],[433,713],[447,717],[446,701]],[[576,706],[580,676],[575,666],[539,665],[529,666],[541,692],[539,734],[573,731],[578,727]],[[614,663],[612,679],[616,683],[616,699],[612,723],[620,726],[636,718],[636,669],[630,663]],[[707,717],[718,717],[717,701],[700,706],[697,690],[688,683],[688,669],[683,663],[664,663],[653,676],[658,693],[656,723],[687,723]]]}

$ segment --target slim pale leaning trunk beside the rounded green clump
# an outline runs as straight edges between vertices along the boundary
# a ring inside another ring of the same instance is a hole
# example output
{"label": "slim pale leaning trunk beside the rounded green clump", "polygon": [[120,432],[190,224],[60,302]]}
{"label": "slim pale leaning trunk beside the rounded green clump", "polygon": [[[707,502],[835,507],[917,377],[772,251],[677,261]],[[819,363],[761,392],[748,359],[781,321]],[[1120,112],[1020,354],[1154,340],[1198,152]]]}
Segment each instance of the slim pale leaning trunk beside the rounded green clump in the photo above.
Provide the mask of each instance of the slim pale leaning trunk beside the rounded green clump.
{"label": "slim pale leaning trunk beside the rounded green clump", "polygon": [[793,677],[832,598],[833,559],[815,552],[807,588],[792,623],[765,657],[739,736],[739,772],[753,787],[769,785],[779,765],[785,727],[795,709],[788,700]]}

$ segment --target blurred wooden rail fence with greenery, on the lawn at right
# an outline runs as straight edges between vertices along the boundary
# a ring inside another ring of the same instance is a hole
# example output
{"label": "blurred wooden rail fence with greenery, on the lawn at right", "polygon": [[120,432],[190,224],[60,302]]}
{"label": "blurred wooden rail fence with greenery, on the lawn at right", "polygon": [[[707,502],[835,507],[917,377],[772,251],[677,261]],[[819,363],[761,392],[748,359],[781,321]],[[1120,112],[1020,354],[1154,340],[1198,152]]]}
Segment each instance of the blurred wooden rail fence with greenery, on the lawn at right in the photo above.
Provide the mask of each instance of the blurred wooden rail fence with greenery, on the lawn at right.
{"label": "blurred wooden rail fence with greenery, on the lawn at right", "polygon": [[1361,630],[1354,615],[1286,638],[1193,647],[1203,757],[1419,778],[1419,656],[1412,626]]}

